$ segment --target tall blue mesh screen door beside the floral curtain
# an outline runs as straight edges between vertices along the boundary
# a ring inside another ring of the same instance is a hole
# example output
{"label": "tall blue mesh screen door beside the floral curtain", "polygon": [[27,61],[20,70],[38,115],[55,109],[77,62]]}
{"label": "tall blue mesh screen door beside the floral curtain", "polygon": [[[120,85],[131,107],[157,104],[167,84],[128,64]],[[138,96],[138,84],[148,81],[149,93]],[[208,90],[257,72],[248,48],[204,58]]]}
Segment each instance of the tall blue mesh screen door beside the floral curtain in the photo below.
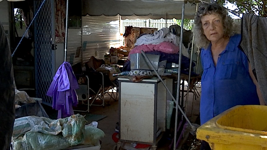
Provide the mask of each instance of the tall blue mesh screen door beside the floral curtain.
{"label": "tall blue mesh screen door beside the floral curtain", "polygon": [[[45,1],[45,2],[44,2]],[[34,56],[35,56],[35,88],[36,96],[42,98],[46,105],[52,104],[52,98],[46,96],[54,75],[55,51],[51,49],[54,36],[54,0],[33,1],[36,13],[44,2],[34,21]]]}

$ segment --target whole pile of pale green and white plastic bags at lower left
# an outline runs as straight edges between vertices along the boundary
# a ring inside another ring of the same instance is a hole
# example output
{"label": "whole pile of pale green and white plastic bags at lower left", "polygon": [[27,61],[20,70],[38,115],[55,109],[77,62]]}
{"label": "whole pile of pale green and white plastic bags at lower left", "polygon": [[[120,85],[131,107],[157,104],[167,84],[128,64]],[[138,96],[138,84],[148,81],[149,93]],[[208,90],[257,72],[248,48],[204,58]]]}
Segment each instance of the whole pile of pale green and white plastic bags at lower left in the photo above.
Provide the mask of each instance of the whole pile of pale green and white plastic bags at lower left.
{"label": "whole pile of pale green and white plastic bags at lower left", "polygon": [[58,150],[76,145],[99,146],[104,132],[97,128],[97,122],[85,126],[80,114],[52,120],[46,117],[27,116],[15,119],[13,150]]}

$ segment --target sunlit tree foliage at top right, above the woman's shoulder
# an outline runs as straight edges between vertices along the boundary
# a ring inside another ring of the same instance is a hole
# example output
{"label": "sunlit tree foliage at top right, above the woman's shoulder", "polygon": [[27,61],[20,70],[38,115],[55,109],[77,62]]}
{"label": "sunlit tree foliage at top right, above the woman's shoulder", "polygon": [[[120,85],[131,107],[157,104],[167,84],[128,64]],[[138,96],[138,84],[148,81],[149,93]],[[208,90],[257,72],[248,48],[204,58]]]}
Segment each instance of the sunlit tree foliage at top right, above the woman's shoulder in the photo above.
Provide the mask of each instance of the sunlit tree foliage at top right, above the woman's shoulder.
{"label": "sunlit tree foliage at top right, above the woman's shoulder", "polygon": [[232,13],[249,13],[267,17],[267,0],[215,0],[216,2],[225,5],[227,2],[237,6]]}

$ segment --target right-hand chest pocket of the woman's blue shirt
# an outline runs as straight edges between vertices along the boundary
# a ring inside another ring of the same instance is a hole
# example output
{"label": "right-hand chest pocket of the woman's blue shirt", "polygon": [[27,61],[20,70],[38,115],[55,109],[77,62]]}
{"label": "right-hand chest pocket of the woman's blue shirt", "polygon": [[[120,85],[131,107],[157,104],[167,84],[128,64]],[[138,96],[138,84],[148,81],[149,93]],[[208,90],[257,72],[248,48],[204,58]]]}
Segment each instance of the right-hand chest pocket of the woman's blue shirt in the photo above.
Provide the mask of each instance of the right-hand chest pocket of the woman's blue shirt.
{"label": "right-hand chest pocket of the woman's blue shirt", "polygon": [[234,59],[222,62],[220,68],[217,68],[218,79],[236,79],[238,64],[239,62],[236,62]]}

